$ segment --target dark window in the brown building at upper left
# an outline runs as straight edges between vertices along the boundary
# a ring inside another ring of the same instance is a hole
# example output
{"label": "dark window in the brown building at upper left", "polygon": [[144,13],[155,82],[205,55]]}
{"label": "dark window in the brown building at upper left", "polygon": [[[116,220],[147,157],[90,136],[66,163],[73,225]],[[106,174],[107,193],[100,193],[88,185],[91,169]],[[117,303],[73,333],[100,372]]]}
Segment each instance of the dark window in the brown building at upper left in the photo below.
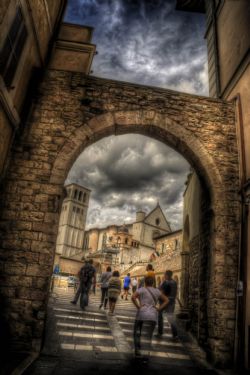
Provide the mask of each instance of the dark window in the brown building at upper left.
{"label": "dark window in the brown building at upper left", "polygon": [[0,74],[2,74],[7,87],[10,87],[14,78],[27,35],[23,15],[18,7],[0,53]]}

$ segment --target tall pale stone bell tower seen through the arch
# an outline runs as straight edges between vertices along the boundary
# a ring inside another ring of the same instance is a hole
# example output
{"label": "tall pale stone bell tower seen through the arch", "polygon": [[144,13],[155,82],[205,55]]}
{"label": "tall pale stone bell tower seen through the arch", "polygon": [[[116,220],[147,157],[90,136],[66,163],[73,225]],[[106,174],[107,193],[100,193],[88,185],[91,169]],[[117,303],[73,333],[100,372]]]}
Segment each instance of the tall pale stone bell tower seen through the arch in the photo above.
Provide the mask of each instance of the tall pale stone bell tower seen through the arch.
{"label": "tall pale stone bell tower seen through the arch", "polygon": [[76,264],[73,267],[70,259],[77,262],[83,257],[83,238],[90,190],[77,184],[67,185],[65,190],[66,198],[61,208],[54,263],[59,265],[62,272],[72,274],[72,270],[76,268],[79,270],[81,265]]}

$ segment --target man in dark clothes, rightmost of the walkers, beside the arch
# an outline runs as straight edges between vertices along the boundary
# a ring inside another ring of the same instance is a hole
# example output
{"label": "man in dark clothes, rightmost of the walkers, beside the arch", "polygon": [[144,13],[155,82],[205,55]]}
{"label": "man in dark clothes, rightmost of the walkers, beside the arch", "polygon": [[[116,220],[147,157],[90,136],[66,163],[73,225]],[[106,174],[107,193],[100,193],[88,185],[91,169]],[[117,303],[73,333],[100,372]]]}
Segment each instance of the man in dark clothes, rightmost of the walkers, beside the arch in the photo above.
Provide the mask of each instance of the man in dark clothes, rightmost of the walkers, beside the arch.
{"label": "man in dark clothes, rightmost of the walkers, beside the arch", "polygon": [[177,296],[177,283],[175,280],[172,279],[173,272],[168,270],[165,272],[165,280],[160,285],[160,290],[162,293],[167,296],[169,302],[165,309],[161,309],[160,313],[158,314],[158,334],[157,337],[160,338],[163,334],[163,313],[165,312],[167,315],[168,322],[171,327],[173,340],[178,339],[178,332],[177,332],[177,325],[175,320],[175,300]]}

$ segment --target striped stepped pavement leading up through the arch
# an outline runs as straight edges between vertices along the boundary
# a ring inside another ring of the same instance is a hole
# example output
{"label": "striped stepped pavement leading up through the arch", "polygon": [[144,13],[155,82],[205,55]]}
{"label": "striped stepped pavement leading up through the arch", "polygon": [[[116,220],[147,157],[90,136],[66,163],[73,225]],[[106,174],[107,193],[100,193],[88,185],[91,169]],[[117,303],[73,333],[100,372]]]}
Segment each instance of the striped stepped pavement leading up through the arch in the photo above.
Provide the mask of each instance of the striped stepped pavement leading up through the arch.
{"label": "striped stepped pavement leading up through the arch", "polygon": [[49,301],[42,354],[26,375],[69,374],[216,374],[191,359],[182,342],[172,342],[165,322],[161,340],[153,339],[147,365],[133,358],[131,301],[119,299],[115,316],[99,310],[100,296],[90,295],[86,311],[70,304],[73,290],[55,289]]}

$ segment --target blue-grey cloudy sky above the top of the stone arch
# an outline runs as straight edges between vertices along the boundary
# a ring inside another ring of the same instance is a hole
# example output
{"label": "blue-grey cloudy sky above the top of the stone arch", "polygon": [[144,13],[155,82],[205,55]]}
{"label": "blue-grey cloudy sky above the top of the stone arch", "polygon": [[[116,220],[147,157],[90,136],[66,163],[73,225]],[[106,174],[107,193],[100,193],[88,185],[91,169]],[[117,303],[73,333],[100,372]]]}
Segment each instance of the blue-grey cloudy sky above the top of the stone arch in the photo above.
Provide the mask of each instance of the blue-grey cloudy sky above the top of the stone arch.
{"label": "blue-grey cloudy sky above the top of the stone arch", "polygon": [[72,0],[66,20],[94,26],[95,75],[207,94],[204,18],[175,0]]}

